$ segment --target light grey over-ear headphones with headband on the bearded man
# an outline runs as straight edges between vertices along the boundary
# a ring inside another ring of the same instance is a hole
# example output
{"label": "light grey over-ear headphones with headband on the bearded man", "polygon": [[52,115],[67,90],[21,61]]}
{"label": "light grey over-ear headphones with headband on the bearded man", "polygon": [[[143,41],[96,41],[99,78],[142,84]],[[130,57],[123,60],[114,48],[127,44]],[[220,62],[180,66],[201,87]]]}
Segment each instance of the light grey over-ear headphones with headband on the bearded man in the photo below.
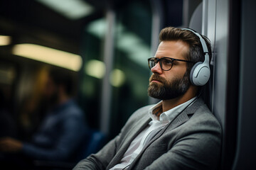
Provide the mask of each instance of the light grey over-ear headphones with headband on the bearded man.
{"label": "light grey over-ear headphones with headband on the bearded man", "polygon": [[203,40],[202,36],[199,33],[196,33],[196,31],[191,30],[189,28],[181,28],[181,30],[190,30],[192,33],[198,36],[201,41],[201,45],[203,47],[203,53],[205,54],[205,60],[204,62],[197,62],[193,65],[189,78],[191,81],[191,84],[195,86],[203,86],[207,83],[207,81],[210,78],[210,58],[209,58],[209,52],[206,45],[206,41]]}

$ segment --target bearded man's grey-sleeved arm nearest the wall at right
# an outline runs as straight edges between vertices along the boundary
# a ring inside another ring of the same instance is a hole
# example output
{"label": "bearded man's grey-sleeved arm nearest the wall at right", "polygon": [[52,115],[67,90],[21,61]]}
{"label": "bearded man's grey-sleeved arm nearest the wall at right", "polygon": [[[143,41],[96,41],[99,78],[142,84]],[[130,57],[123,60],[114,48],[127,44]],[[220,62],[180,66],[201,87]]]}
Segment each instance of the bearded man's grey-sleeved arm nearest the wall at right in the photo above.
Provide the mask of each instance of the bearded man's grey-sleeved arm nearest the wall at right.
{"label": "bearded man's grey-sleeved arm nearest the wall at right", "polygon": [[217,169],[219,158],[220,142],[215,137],[194,134],[178,141],[146,169]]}

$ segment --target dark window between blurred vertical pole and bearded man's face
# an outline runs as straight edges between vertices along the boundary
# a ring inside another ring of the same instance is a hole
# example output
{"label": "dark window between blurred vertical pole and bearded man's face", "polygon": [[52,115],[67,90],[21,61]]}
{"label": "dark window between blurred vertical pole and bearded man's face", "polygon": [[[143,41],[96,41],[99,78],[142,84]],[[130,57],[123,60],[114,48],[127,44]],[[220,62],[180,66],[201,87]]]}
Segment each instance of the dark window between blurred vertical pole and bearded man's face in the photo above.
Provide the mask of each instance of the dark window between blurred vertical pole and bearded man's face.
{"label": "dark window between blurred vertical pole and bearded man's face", "polygon": [[150,4],[142,1],[133,1],[117,11],[110,118],[113,134],[119,132],[129,115],[149,100],[146,60],[151,57],[151,18]]}

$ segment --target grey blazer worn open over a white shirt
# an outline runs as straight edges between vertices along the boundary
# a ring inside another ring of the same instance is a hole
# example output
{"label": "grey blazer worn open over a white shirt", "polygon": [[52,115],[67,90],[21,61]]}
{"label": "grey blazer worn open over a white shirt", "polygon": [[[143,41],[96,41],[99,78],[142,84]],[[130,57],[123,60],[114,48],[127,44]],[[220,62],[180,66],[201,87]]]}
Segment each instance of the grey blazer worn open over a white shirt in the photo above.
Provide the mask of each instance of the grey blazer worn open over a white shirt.
{"label": "grey blazer worn open over a white shirt", "polygon": [[[74,170],[110,169],[119,164],[134,137],[150,122],[150,107],[134,112],[117,137],[80,161]],[[220,146],[220,124],[198,99],[142,149],[129,169],[217,169]]]}

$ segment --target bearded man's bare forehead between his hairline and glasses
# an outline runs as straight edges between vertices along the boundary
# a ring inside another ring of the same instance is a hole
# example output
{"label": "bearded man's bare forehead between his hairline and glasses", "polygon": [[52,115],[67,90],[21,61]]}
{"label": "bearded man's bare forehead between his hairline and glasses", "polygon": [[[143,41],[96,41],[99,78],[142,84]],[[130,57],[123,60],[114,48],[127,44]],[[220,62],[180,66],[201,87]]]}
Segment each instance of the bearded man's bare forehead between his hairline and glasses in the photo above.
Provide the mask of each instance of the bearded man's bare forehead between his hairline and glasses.
{"label": "bearded man's bare forehead between his hairline and glasses", "polygon": [[188,44],[181,40],[162,41],[156,51],[155,57],[172,57],[184,60],[184,56],[188,52]]}

